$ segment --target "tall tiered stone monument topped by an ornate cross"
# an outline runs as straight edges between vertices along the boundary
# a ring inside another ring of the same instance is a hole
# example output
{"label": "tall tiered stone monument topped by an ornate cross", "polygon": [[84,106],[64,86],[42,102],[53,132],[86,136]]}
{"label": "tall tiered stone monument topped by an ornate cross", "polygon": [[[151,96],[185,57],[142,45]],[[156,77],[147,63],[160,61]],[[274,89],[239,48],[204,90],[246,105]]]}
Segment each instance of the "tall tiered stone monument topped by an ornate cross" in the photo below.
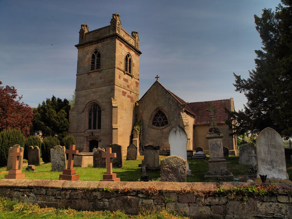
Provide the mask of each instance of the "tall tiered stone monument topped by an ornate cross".
{"label": "tall tiered stone monument topped by an ornate cross", "polygon": [[210,159],[208,163],[209,170],[204,177],[213,179],[233,178],[232,173],[227,169],[226,160],[223,155],[223,134],[220,132],[219,128],[217,128],[214,116],[216,107],[210,103],[207,111],[211,112],[210,128],[206,135],[206,138],[208,139]]}

